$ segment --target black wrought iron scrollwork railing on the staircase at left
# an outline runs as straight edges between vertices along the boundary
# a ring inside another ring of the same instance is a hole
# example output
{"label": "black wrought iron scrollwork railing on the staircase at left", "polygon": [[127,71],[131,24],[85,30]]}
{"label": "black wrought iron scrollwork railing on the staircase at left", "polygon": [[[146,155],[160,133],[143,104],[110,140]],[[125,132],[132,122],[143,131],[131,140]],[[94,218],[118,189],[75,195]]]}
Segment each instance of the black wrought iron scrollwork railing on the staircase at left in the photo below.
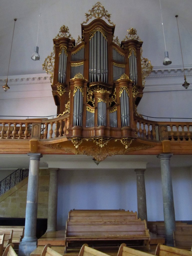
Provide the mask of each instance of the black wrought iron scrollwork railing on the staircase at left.
{"label": "black wrought iron scrollwork railing on the staircase at left", "polygon": [[19,168],[0,181],[0,195],[13,188],[20,181],[29,176],[29,168]]}

